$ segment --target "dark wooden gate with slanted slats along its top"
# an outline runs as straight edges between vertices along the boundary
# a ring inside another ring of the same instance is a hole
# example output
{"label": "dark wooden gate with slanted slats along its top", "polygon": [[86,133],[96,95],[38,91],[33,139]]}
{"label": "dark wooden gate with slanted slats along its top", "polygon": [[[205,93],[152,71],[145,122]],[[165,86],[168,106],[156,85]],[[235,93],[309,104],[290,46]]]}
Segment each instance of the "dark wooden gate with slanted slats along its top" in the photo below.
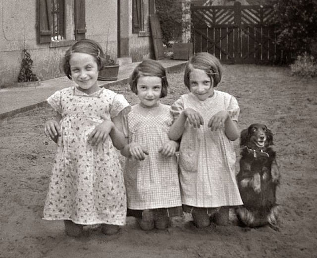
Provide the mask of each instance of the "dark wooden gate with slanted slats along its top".
{"label": "dark wooden gate with slanted slats along its top", "polygon": [[209,52],[223,63],[275,63],[282,52],[269,24],[271,6],[241,5],[191,7],[194,52]]}

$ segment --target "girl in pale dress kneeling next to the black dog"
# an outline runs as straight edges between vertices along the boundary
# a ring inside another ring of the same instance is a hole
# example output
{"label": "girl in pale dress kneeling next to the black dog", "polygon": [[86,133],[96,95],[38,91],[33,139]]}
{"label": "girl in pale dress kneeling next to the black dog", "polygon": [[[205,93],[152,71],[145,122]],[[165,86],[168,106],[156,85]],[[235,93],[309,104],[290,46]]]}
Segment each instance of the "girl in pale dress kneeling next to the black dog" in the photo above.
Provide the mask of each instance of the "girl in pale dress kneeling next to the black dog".
{"label": "girl in pale dress kneeling next to the black dog", "polygon": [[181,138],[179,169],[183,209],[197,227],[227,224],[229,206],[241,205],[235,178],[233,141],[238,138],[235,97],[214,90],[221,80],[219,61],[197,53],[187,63],[184,82],[190,93],[172,105],[169,137]]}

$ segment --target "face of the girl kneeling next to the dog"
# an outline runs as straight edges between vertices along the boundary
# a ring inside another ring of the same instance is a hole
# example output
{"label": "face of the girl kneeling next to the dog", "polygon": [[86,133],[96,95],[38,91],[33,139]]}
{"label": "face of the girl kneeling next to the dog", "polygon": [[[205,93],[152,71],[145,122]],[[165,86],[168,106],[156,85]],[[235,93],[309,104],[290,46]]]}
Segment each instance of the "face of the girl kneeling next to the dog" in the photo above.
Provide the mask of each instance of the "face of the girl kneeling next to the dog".
{"label": "face of the girl kneeling next to the dog", "polygon": [[194,68],[189,73],[189,90],[199,100],[206,100],[213,95],[213,80],[206,71]]}

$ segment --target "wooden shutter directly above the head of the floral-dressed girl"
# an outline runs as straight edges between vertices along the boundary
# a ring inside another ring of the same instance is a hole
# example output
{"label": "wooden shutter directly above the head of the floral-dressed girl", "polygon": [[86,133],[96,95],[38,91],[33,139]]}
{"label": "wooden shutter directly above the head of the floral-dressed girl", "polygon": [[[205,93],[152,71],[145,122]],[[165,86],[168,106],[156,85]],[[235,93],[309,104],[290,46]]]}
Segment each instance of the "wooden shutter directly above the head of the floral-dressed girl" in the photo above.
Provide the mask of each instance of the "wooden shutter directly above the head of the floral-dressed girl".
{"label": "wooden shutter directly above the head of the floral-dressed girl", "polygon": [[75,0],[75,39],[86,37],[86,5],[85,0]]}

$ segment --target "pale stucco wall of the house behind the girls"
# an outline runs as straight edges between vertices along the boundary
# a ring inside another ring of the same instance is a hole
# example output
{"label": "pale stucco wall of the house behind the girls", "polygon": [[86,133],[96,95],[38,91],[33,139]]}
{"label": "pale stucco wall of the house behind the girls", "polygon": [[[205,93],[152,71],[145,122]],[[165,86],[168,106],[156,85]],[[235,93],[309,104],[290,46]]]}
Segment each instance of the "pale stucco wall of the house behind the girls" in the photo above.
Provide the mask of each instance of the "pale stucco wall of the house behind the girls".
{"label": "pale stucco wall of the house behind the girls", "polygon": [[[148,0],[144,1],[145,3]],[[127,17],[128,56],[141,61],[151,54],[151,36],[132,33],[132,0],[121,0]],[[99,42],[111,59],[118,57],[118,15],[116,0],[86,0],[86,38]],[[65,0],[66,39],[39,44],[37,39],[37,0],[0,0],[0,86],[17,82],[25,48],[33,60],[33,72],[41,79],[62,76],[60,60],[75,42],[74,1]],[[145,17],[144,29],[149,31]]]}

